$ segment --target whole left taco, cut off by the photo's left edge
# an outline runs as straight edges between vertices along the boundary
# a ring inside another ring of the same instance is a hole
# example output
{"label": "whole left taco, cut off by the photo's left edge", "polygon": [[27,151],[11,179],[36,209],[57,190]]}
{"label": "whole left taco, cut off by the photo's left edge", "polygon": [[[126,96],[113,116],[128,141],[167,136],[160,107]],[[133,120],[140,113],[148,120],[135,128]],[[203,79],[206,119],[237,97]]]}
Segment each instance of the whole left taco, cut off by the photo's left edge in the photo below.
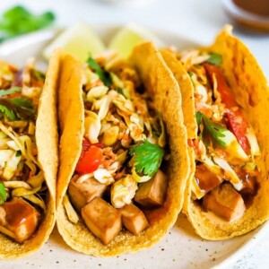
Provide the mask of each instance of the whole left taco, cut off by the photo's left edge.
{"label": "whole left taco, cut off by the photo's left edge", "polygon": [[59,54],[39,72],[0,63],[0,259],[29,256],[56,216],[56,81]]}

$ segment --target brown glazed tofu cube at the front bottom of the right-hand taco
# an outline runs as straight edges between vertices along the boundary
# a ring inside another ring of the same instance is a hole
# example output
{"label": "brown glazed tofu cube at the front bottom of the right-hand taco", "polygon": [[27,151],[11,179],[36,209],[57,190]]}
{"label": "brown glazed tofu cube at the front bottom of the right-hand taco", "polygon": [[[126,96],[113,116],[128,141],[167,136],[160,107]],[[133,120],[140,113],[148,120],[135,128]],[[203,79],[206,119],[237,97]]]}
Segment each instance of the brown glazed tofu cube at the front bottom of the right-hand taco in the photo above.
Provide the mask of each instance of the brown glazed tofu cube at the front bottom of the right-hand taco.
{"label": "brown glazed tofu cube at the front bottom of the right-hand taco", "polygon": [[223,183],[203,198],[203,206],[226,221],[236,221],[246,211],[241,195],[230,185]]}

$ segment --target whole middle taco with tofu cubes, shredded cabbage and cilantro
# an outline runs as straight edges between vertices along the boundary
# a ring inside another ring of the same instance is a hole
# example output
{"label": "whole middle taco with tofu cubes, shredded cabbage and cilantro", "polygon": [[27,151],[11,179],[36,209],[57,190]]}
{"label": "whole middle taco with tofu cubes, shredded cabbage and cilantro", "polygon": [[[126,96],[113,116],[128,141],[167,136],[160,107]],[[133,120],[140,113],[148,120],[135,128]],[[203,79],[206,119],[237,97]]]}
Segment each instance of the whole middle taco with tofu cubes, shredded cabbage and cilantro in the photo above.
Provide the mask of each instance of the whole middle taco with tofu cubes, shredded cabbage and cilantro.
{"label": "whole middle taco with tofu cubes, shredded cabbage and cilantro", "polygon": [[107,54],[82,65],[65,56],[56,223],[70,247],[93,256],[134,252],[177,220],[189,172],[182,111],[173,108],[180,102],[152,43],[129,62]]}

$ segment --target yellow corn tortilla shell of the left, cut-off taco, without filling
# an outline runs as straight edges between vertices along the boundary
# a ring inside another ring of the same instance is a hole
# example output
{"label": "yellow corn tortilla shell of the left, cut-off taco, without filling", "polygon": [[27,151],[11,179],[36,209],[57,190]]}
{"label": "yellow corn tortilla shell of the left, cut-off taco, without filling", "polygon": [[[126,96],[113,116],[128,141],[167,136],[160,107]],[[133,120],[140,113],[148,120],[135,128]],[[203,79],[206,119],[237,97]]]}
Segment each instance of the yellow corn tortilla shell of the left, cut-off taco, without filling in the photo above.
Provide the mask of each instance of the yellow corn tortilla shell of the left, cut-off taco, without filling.
{"label": "yellow corn tortilla shell of the left, cut-off taco, without filling", "polygon": [[16,259],[29,256],[42,247],[56,221],[56,173],[58,166],[57,126],[56,126],[56,88],[59,72],[60,54],[51,56],[45,85],[39,100],[39,111],[36,121],[36,142],[39,164],[42,167],[48,186],[48,197],[45,201],[47,210],[34,236],[22,244],[0,234],[0,259]]}

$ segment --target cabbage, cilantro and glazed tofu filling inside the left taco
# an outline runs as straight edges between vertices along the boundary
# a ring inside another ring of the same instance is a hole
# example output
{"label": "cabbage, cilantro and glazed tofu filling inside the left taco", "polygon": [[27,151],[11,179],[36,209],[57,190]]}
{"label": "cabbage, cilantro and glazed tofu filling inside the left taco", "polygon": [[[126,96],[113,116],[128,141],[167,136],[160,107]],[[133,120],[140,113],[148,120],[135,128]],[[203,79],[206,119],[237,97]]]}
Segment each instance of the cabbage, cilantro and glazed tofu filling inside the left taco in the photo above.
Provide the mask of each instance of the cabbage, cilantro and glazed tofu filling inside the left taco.
{"label": "cabbage, cilantro and glazed tofu filling inside the left taco", "polygon": [[22,243],[35,233],[47,187],[37,161],[35,122],[45,75],[30,60],[0,65],[0,232]]}

